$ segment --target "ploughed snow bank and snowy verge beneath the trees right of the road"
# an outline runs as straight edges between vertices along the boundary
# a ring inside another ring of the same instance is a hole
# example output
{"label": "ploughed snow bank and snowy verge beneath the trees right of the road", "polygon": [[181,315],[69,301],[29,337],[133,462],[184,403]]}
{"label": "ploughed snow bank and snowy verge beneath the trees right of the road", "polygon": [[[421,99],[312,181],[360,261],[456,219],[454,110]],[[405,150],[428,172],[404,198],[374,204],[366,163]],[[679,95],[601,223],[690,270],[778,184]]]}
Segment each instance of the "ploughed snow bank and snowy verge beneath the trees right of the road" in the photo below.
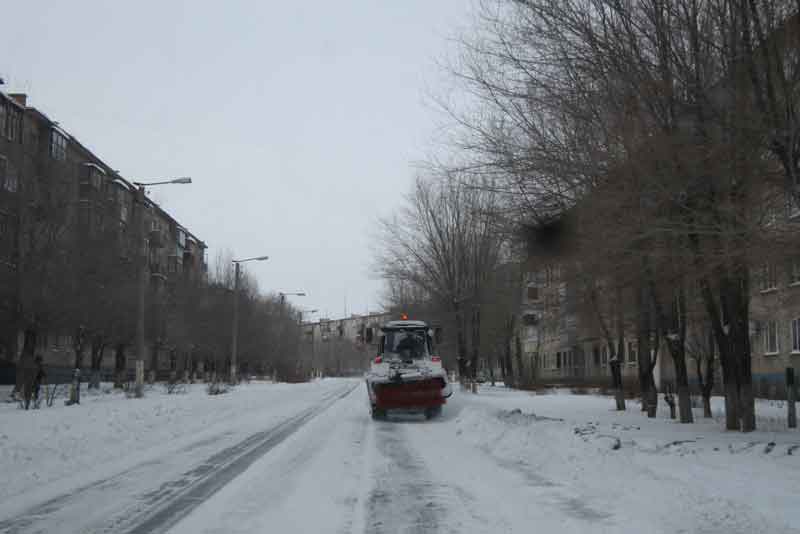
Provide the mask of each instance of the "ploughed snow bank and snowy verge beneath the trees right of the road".
{"label": "ploughed snow bank and snowy verge beneath the trees right of the road", "polygon": [[779,430],[780,403],[759,401],[768,430],[742,434],[723,430],[716,398],[715,418],[695,410],[694,424],[670,420],[663,402],[648,419],[638,403],[617,412],[599,395],[484,387],[461,401],[456,439],[613,515],[625,531],[800,531],[800,432],[785,419]]}

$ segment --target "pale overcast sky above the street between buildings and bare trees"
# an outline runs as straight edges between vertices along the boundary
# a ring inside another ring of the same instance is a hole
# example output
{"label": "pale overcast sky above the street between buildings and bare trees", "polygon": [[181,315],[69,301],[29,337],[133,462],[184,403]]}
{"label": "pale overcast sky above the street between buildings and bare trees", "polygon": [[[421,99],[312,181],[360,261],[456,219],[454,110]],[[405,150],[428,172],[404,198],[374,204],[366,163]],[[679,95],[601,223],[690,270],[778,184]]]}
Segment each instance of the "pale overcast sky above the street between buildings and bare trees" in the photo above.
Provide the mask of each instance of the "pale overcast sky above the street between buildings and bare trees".
{"label": "pale overcast sky above the street between buildings and bare trees", "polygon": [[378,304],[370,227],[435,137],[427,103],[467,0],[26,0],[3,6],[4,90],[131,180],[262,290],[330,316]]}

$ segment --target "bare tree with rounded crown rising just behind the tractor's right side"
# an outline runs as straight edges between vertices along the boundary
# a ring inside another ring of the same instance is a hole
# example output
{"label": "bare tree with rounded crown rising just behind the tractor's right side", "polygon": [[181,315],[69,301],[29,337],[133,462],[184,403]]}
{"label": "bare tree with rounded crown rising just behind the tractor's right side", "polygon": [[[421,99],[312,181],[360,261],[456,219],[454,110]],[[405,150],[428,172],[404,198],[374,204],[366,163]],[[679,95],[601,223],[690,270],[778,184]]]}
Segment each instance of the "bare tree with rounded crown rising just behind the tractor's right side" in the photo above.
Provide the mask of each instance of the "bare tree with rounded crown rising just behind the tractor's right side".
{"label": "bare tree with rounded crown rising just behind the tractor's right side", "polygon": [[503,249],[495,203],[491,192],[457,177],[420,178],[401,210],[380,224],[379,275],[394,287],[416,288],[452,314],[462,377],[474,378],[478,367],[481,304]]}

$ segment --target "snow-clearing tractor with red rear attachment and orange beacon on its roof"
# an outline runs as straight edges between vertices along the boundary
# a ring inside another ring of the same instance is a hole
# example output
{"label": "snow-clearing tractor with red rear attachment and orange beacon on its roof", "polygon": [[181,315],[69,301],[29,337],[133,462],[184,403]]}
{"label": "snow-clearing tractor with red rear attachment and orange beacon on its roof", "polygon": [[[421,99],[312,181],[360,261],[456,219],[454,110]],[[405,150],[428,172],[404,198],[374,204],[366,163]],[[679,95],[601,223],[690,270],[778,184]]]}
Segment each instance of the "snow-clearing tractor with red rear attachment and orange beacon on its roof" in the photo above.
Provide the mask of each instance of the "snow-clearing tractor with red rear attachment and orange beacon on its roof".
{"label": "snow-clearing tractor with red rear attachment and orange beacon on its roof", "polygon": [[373,419],[390,410],[442,413],[452,395],[447,372],[435,355],[432,331],[423,321],[390,321],[381,328],[379,351],[366,374]]}

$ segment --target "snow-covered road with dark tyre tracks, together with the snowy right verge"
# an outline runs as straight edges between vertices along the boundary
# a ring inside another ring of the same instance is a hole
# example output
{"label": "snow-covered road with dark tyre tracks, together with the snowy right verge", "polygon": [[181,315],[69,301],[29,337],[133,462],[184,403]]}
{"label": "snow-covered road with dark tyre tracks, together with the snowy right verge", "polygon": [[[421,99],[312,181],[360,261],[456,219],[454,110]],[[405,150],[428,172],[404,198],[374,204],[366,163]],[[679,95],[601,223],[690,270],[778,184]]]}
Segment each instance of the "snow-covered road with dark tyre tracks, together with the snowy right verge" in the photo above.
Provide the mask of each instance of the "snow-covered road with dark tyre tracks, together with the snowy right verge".
{"label": "snow-covered road with dark tyre tracks, together with the snowy right verge", "polygon": [[800,532],[800,433],[770,417],[742,435],[485,387],[438,420],[376,422],[361,381],[236,394],[263,410],[73,491],[32,489],[16,500],[35,505],[0,504],[0,532]]}

